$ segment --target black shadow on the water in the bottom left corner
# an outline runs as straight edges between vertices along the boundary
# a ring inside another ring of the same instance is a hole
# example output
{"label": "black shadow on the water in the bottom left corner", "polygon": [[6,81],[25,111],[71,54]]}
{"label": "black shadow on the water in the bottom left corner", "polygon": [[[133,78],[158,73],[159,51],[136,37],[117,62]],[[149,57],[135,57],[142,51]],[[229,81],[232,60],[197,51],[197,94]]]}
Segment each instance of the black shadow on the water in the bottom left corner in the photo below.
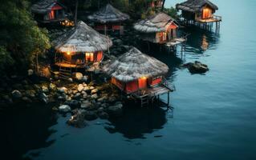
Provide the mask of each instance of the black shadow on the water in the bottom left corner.
{"label": "black shadow on the water in the bottom left corner", "polygon": [[[57,122],[51,107],[35,104],[30,107],[11,108],[0,113],[0,141],[2,159],[22,159],[29,150],[51,146],[55,141],[47,141],[55,130],[50,126]],[[32,157],[40,153],[31,154]]]}

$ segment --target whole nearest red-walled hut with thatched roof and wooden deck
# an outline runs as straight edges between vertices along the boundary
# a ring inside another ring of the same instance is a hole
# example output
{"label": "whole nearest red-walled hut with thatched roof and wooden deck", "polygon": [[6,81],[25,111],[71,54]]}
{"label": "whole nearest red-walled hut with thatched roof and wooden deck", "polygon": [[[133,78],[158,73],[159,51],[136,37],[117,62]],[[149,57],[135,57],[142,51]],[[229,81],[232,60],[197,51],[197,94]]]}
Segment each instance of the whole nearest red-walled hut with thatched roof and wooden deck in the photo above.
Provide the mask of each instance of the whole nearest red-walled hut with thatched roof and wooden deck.
{"label": "whole nearest red-walled hut with thatched roof and wooden deck", "polygon": [[139,99],[141,106],[152,102],[156,97],[159,98],[161,94],[169,95],[173,91],[165,82],[169,67],[156,58],[142,54],[135,47],[105,65],[103,70],[112,77],[113,85],[124,94]]}

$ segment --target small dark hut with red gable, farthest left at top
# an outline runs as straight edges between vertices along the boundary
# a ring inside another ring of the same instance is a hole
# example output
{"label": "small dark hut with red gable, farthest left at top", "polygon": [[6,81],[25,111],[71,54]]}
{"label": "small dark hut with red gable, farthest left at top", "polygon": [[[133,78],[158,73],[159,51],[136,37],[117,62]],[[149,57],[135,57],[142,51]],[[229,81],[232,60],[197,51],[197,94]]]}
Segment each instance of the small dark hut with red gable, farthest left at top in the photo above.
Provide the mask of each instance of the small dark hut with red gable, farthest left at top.
{"label": "small dark hut with red gable, farthest left at top", "polygon": [[62,22],[67,20],[66,7],[57,0],[41,0],[31,6],[35,20],[40,23]]}

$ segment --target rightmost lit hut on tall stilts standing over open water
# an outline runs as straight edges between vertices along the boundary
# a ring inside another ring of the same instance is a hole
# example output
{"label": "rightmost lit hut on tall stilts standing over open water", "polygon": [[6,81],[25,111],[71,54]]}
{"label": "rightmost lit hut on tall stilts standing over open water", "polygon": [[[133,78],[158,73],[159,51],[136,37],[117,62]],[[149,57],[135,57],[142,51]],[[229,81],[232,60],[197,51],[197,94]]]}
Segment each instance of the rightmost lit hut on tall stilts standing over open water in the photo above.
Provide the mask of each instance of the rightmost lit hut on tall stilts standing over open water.
{"label": "rightmost lit hut on tall stilts standing over open water", "polygon": [[177,4],[176,8],[182,11],[181,16],[185,24],[197,23],[197,26],[202,24],[206,28],[215,22],[216,28],[220,27],[221,16],[214,14],[218,7],[209,0],[188,0]]}

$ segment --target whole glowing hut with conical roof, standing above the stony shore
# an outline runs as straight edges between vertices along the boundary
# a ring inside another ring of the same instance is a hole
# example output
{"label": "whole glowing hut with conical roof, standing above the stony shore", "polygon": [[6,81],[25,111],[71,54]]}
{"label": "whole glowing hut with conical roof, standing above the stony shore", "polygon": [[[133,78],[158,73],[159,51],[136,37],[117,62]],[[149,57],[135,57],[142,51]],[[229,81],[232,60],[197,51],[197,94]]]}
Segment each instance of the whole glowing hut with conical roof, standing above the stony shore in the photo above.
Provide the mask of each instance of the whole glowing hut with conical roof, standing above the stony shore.
{"label": "whole glowing hut with conical roof, standing above the stony shore", "polygon": [[104,51],[112,46],[108,36],[98,33],[84,22],[63,34],[54,42],[55,65],[59,66],[62,78],[71,76],[72,69],[99,70]]}

